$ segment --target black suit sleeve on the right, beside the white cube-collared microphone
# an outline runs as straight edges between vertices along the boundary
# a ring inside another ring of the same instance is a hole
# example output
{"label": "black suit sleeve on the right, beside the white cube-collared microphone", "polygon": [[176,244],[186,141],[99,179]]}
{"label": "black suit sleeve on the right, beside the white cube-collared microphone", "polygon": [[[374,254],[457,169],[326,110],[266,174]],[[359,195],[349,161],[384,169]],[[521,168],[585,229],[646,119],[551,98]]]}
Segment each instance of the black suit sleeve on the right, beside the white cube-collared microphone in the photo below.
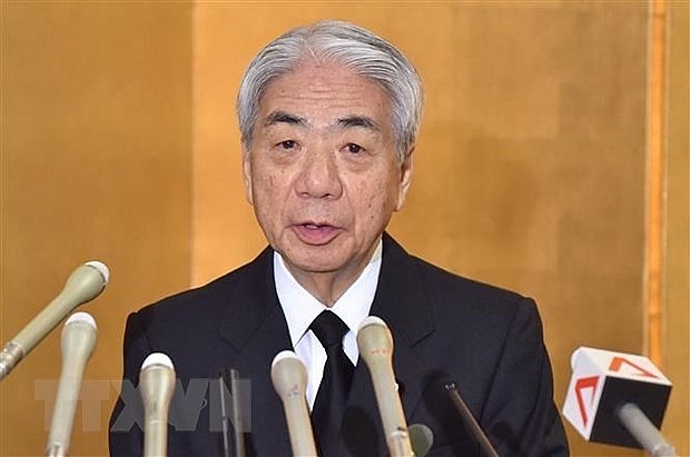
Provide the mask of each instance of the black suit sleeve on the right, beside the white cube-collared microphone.
{"label": "black suit sleeve on the right, beside the white cube-collared microphone", "polygon": [[536,306],[522,299],[493,377],[482,426],[502,456],[568,456]]}

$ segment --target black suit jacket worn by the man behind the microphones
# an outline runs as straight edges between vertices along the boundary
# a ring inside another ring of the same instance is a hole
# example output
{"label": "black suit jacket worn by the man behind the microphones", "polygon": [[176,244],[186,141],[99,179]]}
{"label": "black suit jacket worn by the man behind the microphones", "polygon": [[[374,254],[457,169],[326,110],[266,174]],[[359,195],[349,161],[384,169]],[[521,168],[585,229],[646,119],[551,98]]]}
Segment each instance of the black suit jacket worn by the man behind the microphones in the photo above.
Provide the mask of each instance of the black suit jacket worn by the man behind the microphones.
{"label": "black suit jacket worn by the man behind the microphones", "polygon": [[[450,401],[444,388],[450,381],[455,383],[500,455],[568,455],[552,399],[541,321],[531,299],[436,268],[410,256],[384,234],[371,315],[379,316],[391,328],[403,409],[408,424],[432,429],[430,456],[481,455]],[[183,386],[178,391],[184,394],[181,401],[174,400],[170,413],[170,455],[221,454],[223,438],[214,419],[217,396],[205,386],[225,368],[237,369],[240,378],[250,381],[248,454],[290,455],[283,407],[270,384],[270,362],[284,349],[292,349],[292,344],[276,295],[269,248],[201,288],[130,315],[125,336],[124,400],[116,405],[110,421],[111,455],[141,453],[141,431],[131,427],[131,415],[140,414],[131,385],[138,383],[144,359],[155,351],[171,358]],[[363,360],[356,366],[348,398],[343,454],[387,454]]]}

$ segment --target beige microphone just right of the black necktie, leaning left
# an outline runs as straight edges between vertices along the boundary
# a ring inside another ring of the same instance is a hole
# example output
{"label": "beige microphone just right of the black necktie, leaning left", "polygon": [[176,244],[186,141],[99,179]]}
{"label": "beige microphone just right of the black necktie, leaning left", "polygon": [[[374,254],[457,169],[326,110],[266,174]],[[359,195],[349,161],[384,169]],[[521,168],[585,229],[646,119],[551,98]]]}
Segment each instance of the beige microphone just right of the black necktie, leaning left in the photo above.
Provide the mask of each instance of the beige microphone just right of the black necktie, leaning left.
{"label": "beige microphone just right of the black necktie, leaning left", "polygon": [[386,322],[376,316],[364,319],[357,331],[357,347],[372,376],[388,451],[393,457],[411,456],[407,423],[395,388],[393,336]]}

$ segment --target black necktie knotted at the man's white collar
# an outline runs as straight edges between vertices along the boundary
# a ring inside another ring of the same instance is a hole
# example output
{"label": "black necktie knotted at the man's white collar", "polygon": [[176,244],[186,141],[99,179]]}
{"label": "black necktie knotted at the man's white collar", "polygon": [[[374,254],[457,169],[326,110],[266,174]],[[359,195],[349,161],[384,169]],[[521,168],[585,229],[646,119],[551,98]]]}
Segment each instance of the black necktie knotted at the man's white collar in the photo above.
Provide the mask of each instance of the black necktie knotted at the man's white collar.
{"label": "black necktie knotted at the man's white collar", "polygon": [[348,328],[332,311],[323,311],[309,326],[316,338],[326,349],[326,365],[314,408],[312,425],[314,438],[322,456],[337,455],[339,449],[339,431],[345,410],[345,401],[352,376],[355,370],[343,350],[343,337]]}

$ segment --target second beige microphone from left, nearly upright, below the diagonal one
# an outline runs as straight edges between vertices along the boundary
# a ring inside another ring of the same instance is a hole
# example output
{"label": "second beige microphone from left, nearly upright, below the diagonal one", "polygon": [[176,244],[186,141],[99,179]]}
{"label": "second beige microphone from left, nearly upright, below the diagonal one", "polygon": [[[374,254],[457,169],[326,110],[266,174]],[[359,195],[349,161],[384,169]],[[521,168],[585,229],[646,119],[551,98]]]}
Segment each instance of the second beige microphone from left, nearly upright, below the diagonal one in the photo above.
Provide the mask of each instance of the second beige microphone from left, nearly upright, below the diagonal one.
{"label": "second beige microphone from left, nearly upright, below the diagonal one", "polygon": [[60,340],[62,369],[46,445],[47,456],[68,455],[81,379],[96,347],[96,321],[88,312],[75,312],[65,322]]}

